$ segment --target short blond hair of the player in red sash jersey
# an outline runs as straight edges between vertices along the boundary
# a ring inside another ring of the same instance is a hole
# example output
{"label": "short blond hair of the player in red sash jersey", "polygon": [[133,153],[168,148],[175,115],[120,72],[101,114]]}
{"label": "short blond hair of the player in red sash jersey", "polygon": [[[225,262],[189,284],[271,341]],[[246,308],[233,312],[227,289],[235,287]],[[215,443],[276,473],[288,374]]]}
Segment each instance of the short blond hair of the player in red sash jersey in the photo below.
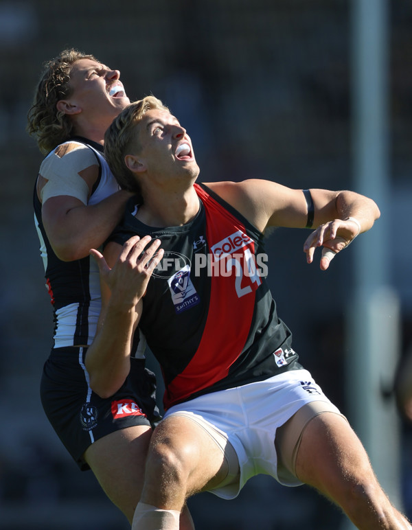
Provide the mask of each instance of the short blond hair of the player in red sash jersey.
{"label": "short blond hair of the player in red sash jersey", "polygon": [[157,109],[169,111],[169,108],[153,95],[148,95],[130,105],[113,120],[111,126],[104,135],[104,157],[111,168],[117,182],[123,189],[139,193],[139,184],[135,175],[131,172],[124,161],[130,148],[139,150],[139,139],[135,125],[141,121],[147,111]]}

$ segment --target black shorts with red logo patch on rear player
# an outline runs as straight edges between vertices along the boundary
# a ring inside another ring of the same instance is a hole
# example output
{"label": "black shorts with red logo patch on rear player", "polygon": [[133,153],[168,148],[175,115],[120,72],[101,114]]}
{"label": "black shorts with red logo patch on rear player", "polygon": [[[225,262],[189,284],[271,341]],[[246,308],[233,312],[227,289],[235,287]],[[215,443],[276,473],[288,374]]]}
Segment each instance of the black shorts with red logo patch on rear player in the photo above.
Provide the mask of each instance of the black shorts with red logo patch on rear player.
{"label": "black shorts with red logo patch on rear player", "polygon": [[155,374],[144,359],[130,359],[128,378],[111,398],[102,399],[89,386],[85,347],[52,349],[41,378],[41,402],[54,430],[81,470],[94,441],[126,427],[160,421],[155,401]]}

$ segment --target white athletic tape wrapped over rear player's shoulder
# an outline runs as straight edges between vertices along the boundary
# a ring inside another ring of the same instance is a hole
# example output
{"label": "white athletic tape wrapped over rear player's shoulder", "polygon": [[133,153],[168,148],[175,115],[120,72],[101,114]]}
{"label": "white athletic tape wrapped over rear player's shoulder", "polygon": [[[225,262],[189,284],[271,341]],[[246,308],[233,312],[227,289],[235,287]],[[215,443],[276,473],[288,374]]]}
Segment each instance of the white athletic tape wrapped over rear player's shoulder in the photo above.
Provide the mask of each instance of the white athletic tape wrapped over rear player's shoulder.
{"label": "white athletic tape wrapped over rear player's shoulder", "polygon": [[41,190],[41,201],[44,204],[50,197],[69,195],[87,205],[89,186],[79,173],[91,165],[98,165],[98,161],[93,151],[82,143],[69,143],[65,146],[67,149],[62,156],[59,156],[59,148],[62,147],[59,146],[41,164],[40,174],[47,178],[47,183]]}

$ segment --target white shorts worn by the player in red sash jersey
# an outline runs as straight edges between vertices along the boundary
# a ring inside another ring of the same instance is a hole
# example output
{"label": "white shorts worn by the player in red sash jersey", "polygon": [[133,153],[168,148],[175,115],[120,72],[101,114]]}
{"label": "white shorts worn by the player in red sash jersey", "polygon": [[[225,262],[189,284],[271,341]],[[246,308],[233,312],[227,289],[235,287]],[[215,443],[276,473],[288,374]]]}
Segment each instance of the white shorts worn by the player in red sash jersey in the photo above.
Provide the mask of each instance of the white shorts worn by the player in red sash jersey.
{"label": "white shorts worn by the player in red sash jersey", "polygon": [[238,496],[244,484],[257,474],[271,475],[286,486],[302,484],[291,473],[278,474],[275,436],[277,428],[299,408],[314,401],[325,402],[326,411],[341,415],[307,370],[291,370],[264,381],[201,395],[174,405],[165,417],[191,417],[208,430],[222,448],[225,448],[222,440],[233,446],[240,473],[235,480],[229,483],[225,480],[211,490],[219,497],[230,499]]}

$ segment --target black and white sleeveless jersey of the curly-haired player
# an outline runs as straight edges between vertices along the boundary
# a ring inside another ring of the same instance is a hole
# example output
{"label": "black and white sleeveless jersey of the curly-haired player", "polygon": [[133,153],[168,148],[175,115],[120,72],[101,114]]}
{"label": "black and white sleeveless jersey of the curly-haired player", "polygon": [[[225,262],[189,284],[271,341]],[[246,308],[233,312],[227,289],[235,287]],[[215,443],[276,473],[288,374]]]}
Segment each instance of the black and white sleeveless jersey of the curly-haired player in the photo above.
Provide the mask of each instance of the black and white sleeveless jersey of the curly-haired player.
{"label": "black and white sleeveless jersey of the curly-haired player", "polygon": [[[90,148],[99,165],[98,180],[88,204],[99,203],[117,192],[119,185],[102,155],[102,146],[80,137],[65,143],[73,141],[83,143]],[[90,345],[95,336],[101,307],[98,266],[89,256],[73,262],[62,262],[58,259],[43,227],[41,202],[38,200],[36,185],[34,185],[34,222],[41,245],[46,288],[54,311],[54,347]]]}

